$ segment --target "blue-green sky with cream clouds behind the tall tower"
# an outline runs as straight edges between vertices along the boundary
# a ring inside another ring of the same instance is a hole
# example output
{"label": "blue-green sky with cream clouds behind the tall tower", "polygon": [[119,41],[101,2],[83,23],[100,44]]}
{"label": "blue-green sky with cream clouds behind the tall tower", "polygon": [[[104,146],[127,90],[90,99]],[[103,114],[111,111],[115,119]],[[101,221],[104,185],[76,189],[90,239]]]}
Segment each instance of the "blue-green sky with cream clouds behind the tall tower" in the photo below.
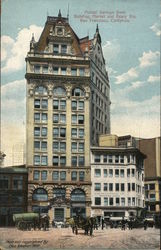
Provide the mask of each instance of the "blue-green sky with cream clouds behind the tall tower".
{"label": "blue-green sky with cream clouds behind the tall tower", "polygon": [[[91,4],[92,2],[92,4]],[[25,57],[47,16],[69,14],[79,38],[102,39],[110,79],[111,133],[160,136],[160,0],[2,0],[1,150],[13,164],[25,144]],[[19,147],[17,147],[19,148]]]}

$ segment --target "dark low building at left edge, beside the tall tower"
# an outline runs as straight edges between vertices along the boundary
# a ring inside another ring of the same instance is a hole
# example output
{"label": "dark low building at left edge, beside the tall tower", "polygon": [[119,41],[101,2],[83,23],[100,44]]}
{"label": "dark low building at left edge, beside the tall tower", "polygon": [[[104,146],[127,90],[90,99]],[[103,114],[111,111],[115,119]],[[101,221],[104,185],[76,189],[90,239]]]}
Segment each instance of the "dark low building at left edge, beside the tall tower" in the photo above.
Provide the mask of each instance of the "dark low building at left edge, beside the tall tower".
{"label": "dark low building at left edge, beside the tall tower", "polygon": [[12,226],[13,214],[27,211],[25,166],[0,168],[0,226]]}

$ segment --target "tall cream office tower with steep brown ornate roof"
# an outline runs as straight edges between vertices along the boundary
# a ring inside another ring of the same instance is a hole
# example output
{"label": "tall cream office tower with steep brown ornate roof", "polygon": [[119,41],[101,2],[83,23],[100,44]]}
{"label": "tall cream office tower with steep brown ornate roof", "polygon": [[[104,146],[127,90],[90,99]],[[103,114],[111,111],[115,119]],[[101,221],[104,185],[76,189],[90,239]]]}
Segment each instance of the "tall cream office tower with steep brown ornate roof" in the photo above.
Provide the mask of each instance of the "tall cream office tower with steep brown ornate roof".
{"label": "tall cream office tower with steep brown ornate roof", "polygon": [[110,133],[109,81],[98,27],[79,39],[47,17],[26,57],[28,210],[64,221],[91,213],[90,145]]}

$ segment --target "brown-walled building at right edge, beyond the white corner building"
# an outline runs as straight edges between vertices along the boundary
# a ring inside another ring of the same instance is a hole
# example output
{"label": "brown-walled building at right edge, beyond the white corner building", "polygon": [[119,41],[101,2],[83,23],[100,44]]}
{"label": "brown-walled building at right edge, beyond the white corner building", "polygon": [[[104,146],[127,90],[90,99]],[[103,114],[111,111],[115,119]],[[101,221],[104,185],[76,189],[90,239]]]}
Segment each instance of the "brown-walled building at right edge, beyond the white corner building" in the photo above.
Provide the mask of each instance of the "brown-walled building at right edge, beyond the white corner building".
{"label": "brown-walled building at right edge, beyond the white corner building", "polygon": [[161,211],[160,137],[140,139],[138,147],[147,156],[144,163],[145,206],[149,213],[159,215]]}

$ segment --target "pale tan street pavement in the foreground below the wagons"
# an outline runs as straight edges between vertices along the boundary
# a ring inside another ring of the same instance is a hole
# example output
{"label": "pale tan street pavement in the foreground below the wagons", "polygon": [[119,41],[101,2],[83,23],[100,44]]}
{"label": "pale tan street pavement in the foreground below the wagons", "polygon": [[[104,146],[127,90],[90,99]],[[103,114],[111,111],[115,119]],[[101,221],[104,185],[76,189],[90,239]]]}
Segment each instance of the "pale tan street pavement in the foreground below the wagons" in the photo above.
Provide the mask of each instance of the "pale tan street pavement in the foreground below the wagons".
{"label": "pale tan street pavement in the foreground below the wagons", "polygon": [[4,249],[160,249],[160,230],[155,228],[104,229],[86,236],[71,228],[50,228],[49,231],[19,231],[0,228],[0,250]]}

